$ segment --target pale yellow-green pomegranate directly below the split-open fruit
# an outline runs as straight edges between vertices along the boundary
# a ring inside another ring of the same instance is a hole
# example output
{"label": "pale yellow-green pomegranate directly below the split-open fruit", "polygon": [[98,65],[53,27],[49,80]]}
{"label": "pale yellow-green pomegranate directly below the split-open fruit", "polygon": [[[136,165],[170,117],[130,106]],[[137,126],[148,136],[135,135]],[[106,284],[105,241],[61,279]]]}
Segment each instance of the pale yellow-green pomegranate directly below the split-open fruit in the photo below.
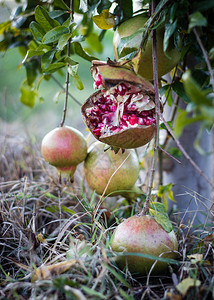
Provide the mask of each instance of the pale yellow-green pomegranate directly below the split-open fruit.
{"label": "pale yellow-green pomegranate directly below the split-open fruit", "polygon": [[[123,194],[124,191],[132,190],[139,176],[139,161],[133,149],[117,154],[108,149],[104,151],[105,144],[93,143],[88,149],[88,155],[84,162],[85,179],[92,190],[102,195],[112,174],[111,181],[105,191],[105,195],[115,192]],[[123,163],[124,162],[124,163]]]}

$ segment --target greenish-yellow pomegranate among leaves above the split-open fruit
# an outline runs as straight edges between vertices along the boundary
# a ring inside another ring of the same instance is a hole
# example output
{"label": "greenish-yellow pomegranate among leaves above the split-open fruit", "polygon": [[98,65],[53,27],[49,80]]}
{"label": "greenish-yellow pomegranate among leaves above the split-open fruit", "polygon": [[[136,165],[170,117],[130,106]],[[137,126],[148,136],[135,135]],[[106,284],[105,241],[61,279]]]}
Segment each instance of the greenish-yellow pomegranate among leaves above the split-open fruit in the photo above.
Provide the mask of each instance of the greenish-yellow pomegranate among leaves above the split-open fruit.
{"label": "greenish-yellow pomegranate among leaves above the split-open fruit", "polygon": [[[148,20],[148,17],[145,14],[137,15],[131,19],[123,22],[115,30],[113,37],[113,49],[115,59],[119,60],[120,58],[125,57],[130,52],[137,51],[141,40],[142,32],[137,34],[133,39],[131,39],[122,52],[119,53],[119,48],[123,42],[123,38],[127,38],[132,34],[140,30]],[[173,39],[169,40],[169,45],[166,51],[166,54],[163,50],[163,38],[164,38],[164,28],[157,29],[156,31],[157,38],[157,64],[158,64],[158,76],[159,78],[164,74],[171,71],[180,60],[180,52],[177,50],[173,43]],[[147,78],[148,80],[153,80],[153,64],[152,64],[152,34],[150,33],[145,49],[142,49],[142,57],[139,65],[138,73]]]}

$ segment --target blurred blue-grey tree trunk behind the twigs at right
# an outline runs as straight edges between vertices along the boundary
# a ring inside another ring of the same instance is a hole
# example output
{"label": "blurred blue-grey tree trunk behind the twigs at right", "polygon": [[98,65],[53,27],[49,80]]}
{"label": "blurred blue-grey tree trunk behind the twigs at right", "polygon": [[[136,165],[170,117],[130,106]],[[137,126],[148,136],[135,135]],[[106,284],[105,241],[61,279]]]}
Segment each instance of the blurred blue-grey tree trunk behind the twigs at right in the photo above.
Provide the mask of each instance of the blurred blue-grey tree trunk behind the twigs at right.
{"label": "blurred blue-grey tree trunk behind the twigs at right", "polygon": [[[193,144],[198,134],[200,124],[187,126],[179,141],[192,160],[200,167],[204,174],[212,181],[212,155],[200,155]],[[174,142],[170,146],[175,146]],[[206,153],[212,152],[212,134],[203,132],[201,147]],[[173,183],[173,193],[178,209],[178,218],[182,223],[207,224],[210,223],[212,206],[212,188],[210,184],[195,170],[190,162],[182,157],[181,164],[172,158],[165,158],[163,163],[163,184]],[[169,201],[169,209],[173,202]]]}

